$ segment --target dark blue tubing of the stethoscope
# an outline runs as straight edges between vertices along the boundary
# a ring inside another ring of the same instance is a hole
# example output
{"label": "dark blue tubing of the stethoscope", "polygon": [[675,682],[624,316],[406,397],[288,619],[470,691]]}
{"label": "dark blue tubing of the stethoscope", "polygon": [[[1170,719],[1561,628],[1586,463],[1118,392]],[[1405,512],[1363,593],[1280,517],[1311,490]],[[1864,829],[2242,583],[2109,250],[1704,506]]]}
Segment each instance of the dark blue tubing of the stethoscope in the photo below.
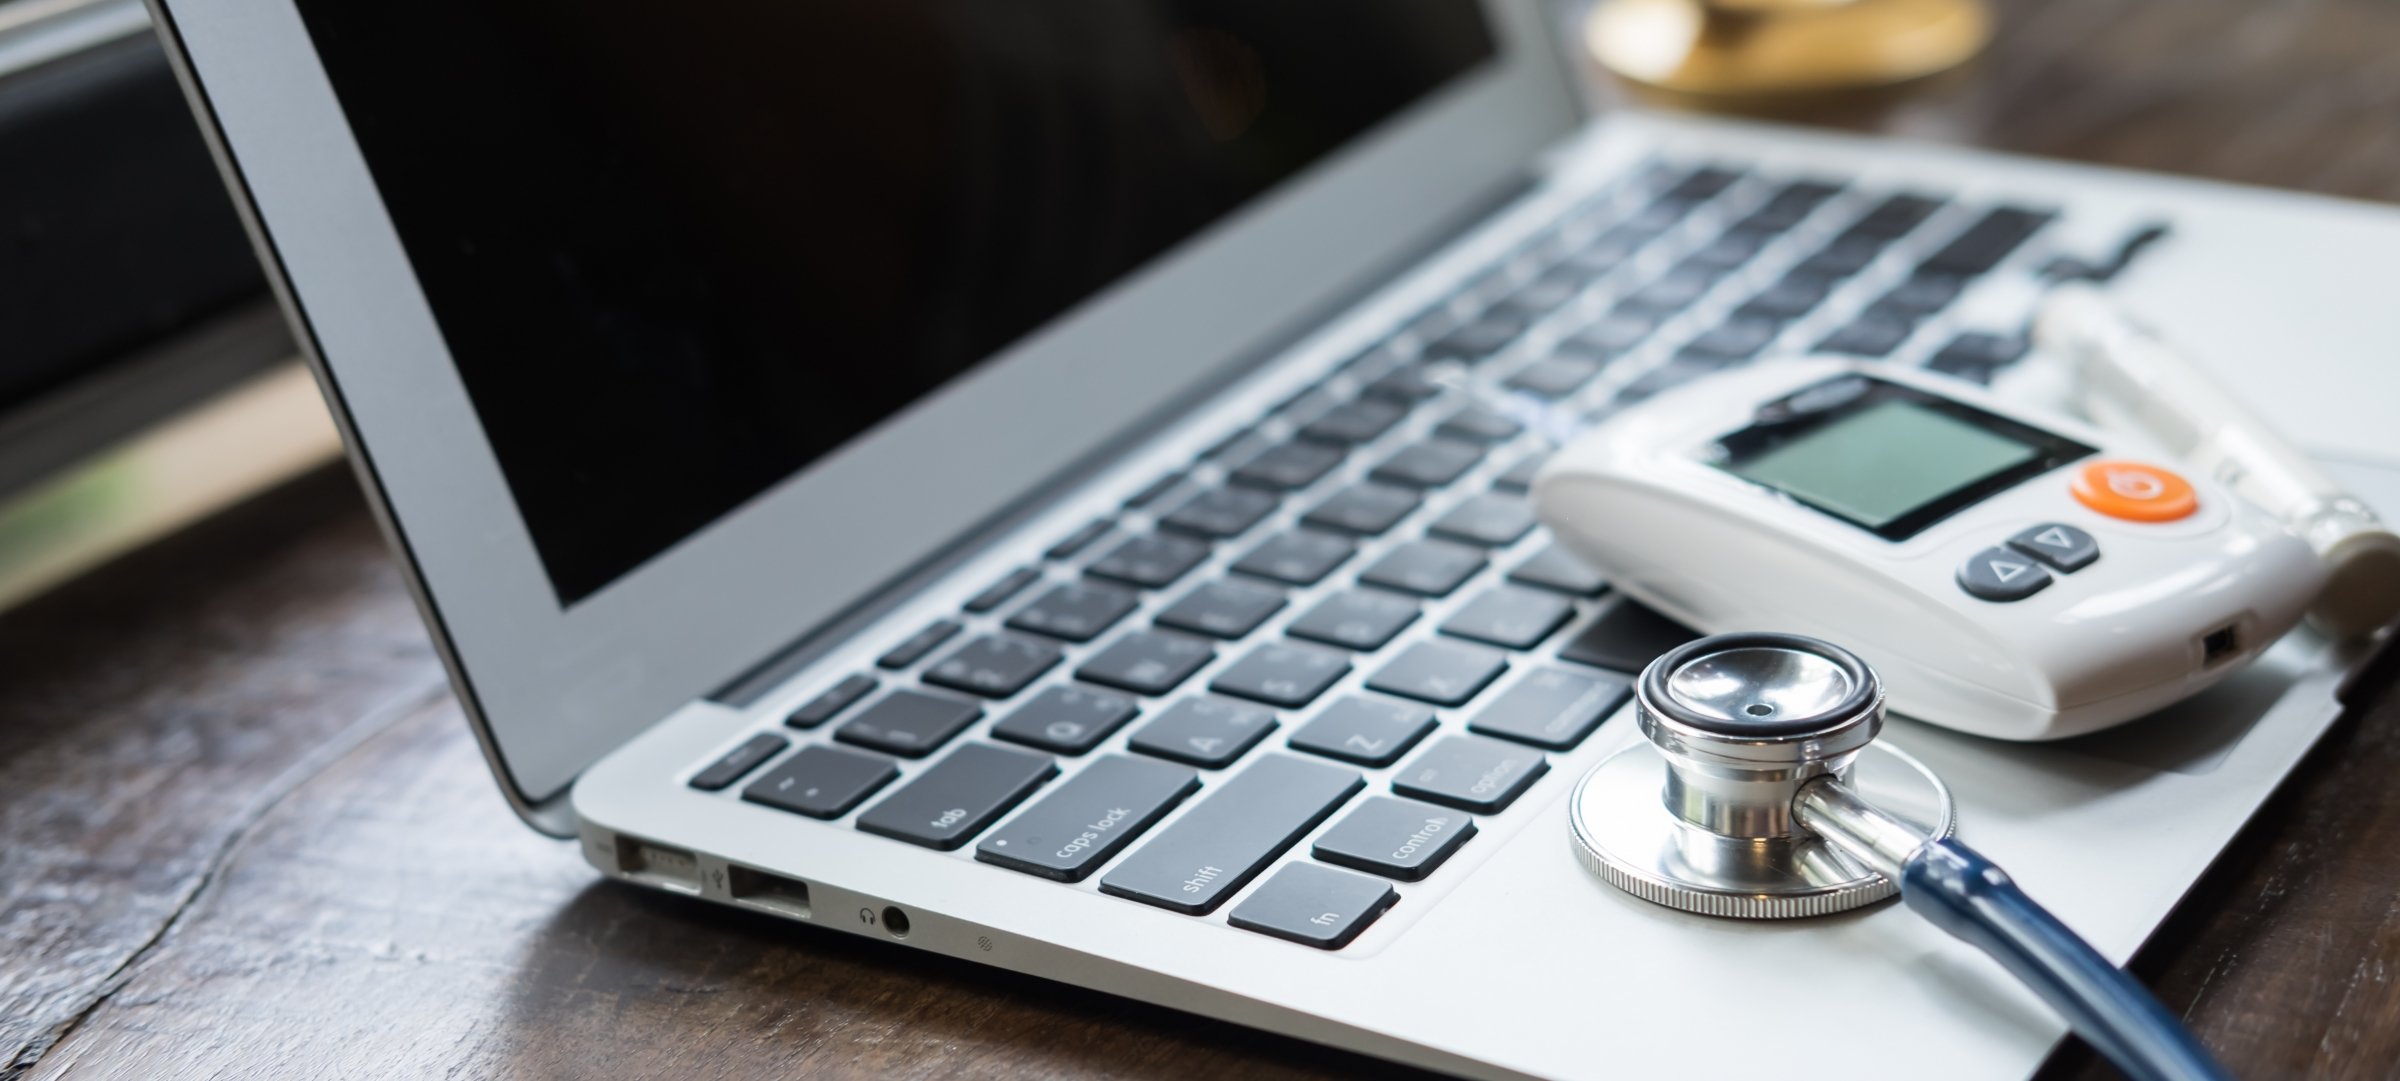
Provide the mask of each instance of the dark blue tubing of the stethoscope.
{"label": "dark blue tubing of the stethoscope", "polygon": [[2138,980],[1982,853],[1949,838],[1920,846],[1901,865],[1901,903],[1999,961],[2129,1079],[2232,1081]]}

